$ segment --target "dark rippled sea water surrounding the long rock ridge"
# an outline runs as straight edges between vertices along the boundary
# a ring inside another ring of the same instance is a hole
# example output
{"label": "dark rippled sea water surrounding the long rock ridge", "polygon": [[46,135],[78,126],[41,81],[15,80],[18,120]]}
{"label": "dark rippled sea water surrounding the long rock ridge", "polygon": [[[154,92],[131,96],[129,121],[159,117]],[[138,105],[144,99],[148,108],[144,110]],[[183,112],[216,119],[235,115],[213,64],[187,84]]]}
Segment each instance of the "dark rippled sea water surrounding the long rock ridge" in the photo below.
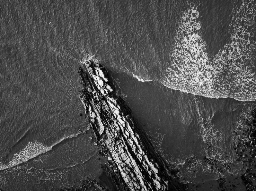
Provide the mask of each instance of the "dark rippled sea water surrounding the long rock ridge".
{"label": "dark rippled sea water surrounding the long rock ridge", "polygon": [[[241,2],[192,2],[209,57],[230,41],[229,23]],[[101,175],[78,98],[77,68],[88,53],[109,69],[140,128],[181,181],[217,190],[214,180],[230,176],[240,181],[237,190],[245,189],[232,134],[243,102],[165,83],[187,1],[2,1],[0,10],[1,189],[58,190]],[[208,168],[205,156],[224,170]]]}

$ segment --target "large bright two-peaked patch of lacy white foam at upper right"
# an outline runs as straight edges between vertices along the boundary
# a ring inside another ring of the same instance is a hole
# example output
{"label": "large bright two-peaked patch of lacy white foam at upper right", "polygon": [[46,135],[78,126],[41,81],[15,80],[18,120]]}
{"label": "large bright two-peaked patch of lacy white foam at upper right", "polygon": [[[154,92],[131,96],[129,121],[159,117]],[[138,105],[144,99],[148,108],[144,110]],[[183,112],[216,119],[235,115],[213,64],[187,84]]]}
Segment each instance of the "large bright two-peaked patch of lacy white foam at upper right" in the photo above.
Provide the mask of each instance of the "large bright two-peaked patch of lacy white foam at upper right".
{"label": "large bright two-peaked patch of lacy white foam at upper right", "polygon": [[197,7],[183,13],[170,54],[171,66],[162,83],[169,88],[210,98],[256,100],[256,4],[243,1],[233,9],[230,43],[212,59],[200,34]]}

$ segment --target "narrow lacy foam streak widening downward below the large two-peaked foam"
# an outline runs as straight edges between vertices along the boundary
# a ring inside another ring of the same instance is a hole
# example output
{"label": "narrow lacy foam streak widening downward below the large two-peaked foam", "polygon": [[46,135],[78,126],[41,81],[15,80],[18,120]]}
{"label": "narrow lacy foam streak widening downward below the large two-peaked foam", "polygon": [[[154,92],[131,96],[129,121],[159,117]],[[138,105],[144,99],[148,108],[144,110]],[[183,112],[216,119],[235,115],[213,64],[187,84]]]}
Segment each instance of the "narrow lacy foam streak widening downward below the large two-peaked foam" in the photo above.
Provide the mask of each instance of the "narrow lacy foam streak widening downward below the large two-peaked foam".
{"label": "narrow lacy foam streak widening downward below the large two-peaked foam", "polygon": [[[222,147],[222,133],[214,127],[211,119],[203,118],[202,103],[194,97],[194,107],[197,110],[197,120],[200,126],[200,136],[204,142],[202,148],[205,154],[205,161],[202,163],[202,173],[210,174],[215,180],[226,177],[229,174],[237,173],[240,168],[236,162],[236,156],[227,154]],[[229,168],[225,168],[228,167]]]}

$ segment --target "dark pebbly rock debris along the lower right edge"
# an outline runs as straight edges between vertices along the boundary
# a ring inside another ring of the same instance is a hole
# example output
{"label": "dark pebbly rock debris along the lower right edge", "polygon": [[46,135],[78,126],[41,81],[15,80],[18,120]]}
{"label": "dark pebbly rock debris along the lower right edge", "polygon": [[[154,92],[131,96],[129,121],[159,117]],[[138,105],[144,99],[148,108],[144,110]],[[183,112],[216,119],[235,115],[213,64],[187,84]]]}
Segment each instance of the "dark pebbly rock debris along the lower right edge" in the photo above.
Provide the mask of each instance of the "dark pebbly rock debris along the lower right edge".
{"label": "dark pebbly rock debris along the lower right edge", "polygon": [[256,190],[256,121],[255,103],[245,103],[233,129],[234,150],[241,164],[241,175],[246,190]]}

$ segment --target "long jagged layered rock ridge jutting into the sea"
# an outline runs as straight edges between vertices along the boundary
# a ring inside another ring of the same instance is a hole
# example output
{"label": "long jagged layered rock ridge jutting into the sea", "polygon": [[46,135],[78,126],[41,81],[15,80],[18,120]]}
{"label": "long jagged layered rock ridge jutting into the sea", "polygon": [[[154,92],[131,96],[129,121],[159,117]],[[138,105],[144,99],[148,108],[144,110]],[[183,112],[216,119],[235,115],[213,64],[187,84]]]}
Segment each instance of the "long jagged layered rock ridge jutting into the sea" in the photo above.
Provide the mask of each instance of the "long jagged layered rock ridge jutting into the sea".
{"label": "long jagged layered rock ridge jutting into the sea", "polygon": [[97,144],[111,155],[108,160],[113,161],[111,167],[126,183],[126,190],[176,190],[134,123],[131,110],[114,93],[105,67],[90,60],[85,67],[79,68],[83,87],[80,100],[90,114]]}

